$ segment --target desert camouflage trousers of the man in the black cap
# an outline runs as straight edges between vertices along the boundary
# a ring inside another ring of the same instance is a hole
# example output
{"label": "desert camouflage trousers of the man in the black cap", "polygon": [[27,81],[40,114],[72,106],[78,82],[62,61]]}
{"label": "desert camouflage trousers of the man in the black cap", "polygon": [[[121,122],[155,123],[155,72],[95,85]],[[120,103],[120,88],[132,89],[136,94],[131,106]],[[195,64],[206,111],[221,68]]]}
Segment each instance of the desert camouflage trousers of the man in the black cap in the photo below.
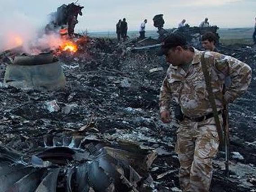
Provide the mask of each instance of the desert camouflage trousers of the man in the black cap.
{"label": "desert camouflage trousers of the man in the black cap", "polygon": [[[222,123],[221,115],[219,116]],[[212,159],[219,138],[214,118],[202,122],[180,122],[175,152],[180,161],[180,188],[184,192],[208,192],[212,179]]]}

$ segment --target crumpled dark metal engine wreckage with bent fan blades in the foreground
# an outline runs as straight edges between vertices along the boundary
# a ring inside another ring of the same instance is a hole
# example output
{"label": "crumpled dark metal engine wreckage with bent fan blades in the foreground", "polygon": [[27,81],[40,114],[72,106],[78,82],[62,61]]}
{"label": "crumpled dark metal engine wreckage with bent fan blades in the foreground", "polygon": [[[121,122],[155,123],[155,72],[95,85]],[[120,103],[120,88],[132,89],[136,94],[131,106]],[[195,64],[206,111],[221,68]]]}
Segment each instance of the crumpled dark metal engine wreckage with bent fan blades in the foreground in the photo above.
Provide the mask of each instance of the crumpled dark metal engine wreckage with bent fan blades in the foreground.
{"label": "crumpled dark metal engine wreckage with bent fan blades in the foreground", "polygon": [[[135,144],[130,147],[80,136],[45,138],[31,161],[22,163],[22,155],[0,146],[0,192],[138,192],[140,174],[156,156]],[[140,174],[132,164],[140,166]]]}

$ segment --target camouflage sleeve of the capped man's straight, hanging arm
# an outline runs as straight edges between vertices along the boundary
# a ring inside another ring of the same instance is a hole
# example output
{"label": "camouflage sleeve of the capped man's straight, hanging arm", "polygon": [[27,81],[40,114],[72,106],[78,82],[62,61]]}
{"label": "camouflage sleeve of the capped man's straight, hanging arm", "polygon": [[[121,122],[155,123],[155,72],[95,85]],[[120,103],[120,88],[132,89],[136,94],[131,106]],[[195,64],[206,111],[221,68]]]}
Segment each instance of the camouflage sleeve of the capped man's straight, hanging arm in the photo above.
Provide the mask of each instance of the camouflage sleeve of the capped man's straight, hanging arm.
{"label": "camouflage sleeve of the capped man's straight, hanging arm", "polygon": [[163,80],[161,89],[160,89],[160,98],[159,98],[159,107],[160,113],[163,111],[169,111],[171,103],[171,88],[167,80],[167,76]]}

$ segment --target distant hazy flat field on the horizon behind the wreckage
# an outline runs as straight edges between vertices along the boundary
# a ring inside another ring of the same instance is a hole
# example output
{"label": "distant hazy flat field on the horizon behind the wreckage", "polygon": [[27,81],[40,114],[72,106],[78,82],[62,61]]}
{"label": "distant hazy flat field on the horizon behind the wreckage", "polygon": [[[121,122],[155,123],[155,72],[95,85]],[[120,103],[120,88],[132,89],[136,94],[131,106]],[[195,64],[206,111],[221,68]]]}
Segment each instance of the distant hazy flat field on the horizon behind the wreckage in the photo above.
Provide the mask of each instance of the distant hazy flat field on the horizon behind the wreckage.
{"label": "distant hazy flat field on the horizon behind the wreckage", "polygon": [[[225,45],[232,44],[253,44],[252,34],[253,28],[220,28],[218,33],[220,35],[220,42]],[[93,37],[107,37],[116,38],[116,33],[112,31],[107,32],[89,32],[90,36]],[[135,38],[139,36],[138,31],[128,31],[128,36],[130,38]],[[157,38],[158,34],[156,31],[147,31],[146,36],[151,36],[152,38]]]}

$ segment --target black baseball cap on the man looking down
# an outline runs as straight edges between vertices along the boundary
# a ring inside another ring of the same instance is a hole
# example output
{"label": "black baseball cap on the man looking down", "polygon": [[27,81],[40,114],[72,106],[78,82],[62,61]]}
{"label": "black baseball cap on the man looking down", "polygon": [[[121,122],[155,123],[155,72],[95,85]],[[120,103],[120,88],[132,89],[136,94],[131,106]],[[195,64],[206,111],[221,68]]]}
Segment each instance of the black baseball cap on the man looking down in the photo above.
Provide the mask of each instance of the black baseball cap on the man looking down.
{"label": "black baseball cap on the man looking down", "polygon": [[169,49],[177,46],[186,46],[187,40],[179,34],[171,34],[167,36],[161,43],[161,49],[157,52],[158,56],[166,55]]}

